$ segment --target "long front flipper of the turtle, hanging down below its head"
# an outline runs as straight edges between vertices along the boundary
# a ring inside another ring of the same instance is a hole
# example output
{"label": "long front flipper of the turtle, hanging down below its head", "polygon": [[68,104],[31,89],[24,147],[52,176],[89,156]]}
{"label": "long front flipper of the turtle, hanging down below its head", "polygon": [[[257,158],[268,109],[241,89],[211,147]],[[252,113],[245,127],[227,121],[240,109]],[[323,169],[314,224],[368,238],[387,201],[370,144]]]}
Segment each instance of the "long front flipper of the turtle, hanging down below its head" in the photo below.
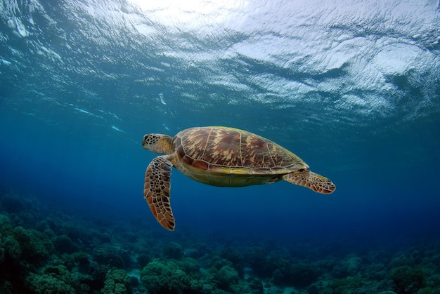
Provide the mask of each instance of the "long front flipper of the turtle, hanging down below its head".
{"label": "long front flipper of the turtle, hanging down below its head", "polygon": [[143,196],[157,222],[165,229],[174,231],[174,216],[169,204],[171,170],[173,163],[166,156],[157,156],[145,171]]}

